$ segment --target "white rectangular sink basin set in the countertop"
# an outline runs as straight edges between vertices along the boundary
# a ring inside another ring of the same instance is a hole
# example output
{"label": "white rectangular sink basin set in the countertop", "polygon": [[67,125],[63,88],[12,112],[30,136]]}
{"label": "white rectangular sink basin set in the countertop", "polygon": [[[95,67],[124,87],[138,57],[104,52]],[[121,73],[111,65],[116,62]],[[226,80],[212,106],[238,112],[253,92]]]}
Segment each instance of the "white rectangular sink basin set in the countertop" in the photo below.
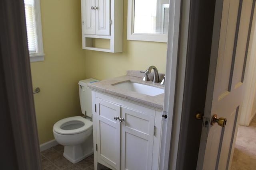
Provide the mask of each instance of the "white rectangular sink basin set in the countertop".
{"label": "white rectangular sink basin set in the countertop", "polygon": [[154,86],[148,86],[146,84],[140,84],[135,82],[121,82],[118,84],[112,84],[112,86],[122,88],[125,90],[130,90],[132,92],[137,92],[140,94],[146,94],[149,96],[156,96],[164,93],[164,89],[162,88],[157,88]]}

